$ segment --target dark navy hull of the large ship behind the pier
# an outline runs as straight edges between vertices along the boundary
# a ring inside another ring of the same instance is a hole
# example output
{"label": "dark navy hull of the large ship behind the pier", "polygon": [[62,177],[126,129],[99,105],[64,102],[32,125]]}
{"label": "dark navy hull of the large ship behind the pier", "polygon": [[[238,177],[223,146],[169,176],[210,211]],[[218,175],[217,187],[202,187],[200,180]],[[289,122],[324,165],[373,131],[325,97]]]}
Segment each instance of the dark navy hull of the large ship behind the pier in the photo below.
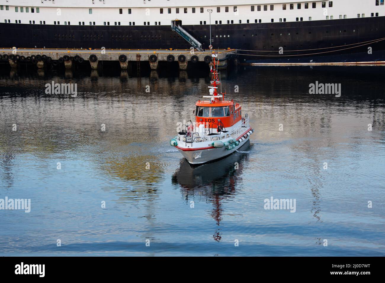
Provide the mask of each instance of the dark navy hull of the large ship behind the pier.
{"label": "dark navy hull of the large ship behind the pier", "polygon": [[[183,25],[203,48],[208,25]],[[169,26],[33,25],[0,23],[3,47],[189,49]],[[385,61],[385,18],[211,25],[214,49],[239,49],[246,63]],[[279,53],[280,47],[282,54]],[[368,48],[372,52],[368,52]],[[259,50],[242,51],[242,50]],[[300,51],[293,51],[300,50]]]}

